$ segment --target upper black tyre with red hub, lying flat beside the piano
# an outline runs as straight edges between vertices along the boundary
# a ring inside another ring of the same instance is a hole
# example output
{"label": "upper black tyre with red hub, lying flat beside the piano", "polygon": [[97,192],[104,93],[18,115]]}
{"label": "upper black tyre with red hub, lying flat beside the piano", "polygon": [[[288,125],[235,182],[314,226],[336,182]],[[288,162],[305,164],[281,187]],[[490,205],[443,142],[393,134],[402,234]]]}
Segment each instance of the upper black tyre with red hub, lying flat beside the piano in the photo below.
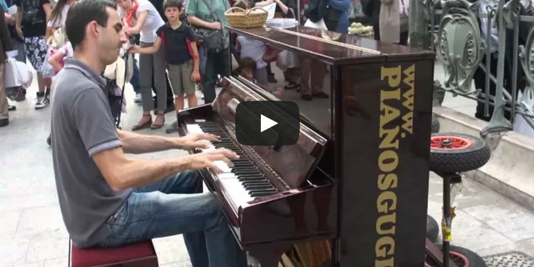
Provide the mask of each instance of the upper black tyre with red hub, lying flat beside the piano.
{"label": "upper black tyre with red hub, lying flat beside the piano", "polygon": [[484,166],[490,159],[490,147],[475,136],[439,133],[430,137],[430,171],[458,173]]}

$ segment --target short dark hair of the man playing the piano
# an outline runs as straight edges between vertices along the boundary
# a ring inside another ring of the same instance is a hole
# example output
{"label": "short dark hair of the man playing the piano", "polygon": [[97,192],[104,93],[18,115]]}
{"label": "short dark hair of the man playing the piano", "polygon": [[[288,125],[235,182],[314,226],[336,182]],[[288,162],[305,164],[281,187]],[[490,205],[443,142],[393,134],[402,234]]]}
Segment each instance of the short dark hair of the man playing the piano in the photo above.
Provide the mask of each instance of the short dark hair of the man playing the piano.
{"label": "short dark hair of the man playing the piano", "polygon": [[115,3],[107,0],[81,0],[70,6],[65,20],[65,30],[73,48],[85,38],[85,27],[89,22],[94,20],[98,25],[107,27],[109,17],[107,7],[117,9]]}

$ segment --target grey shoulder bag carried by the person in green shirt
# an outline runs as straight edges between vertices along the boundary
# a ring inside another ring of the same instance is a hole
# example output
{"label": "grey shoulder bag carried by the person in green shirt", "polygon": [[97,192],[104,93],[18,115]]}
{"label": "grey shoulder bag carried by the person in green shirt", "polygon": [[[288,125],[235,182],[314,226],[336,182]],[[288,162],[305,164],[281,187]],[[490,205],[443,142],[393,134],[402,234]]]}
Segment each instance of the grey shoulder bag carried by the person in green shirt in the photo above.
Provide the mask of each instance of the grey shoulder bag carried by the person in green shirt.
{"label": "grey shoulder bag carried by the person in green shirt", "polygon": [[195,26],[192,26],[191,29],[193,30],[195,37],[197,37],[197,41],[201,41],[202,44],[207,48],[208,52],[218,53],[219,51],[222,51],[225,48],[226,37],[223,33],[223,23],[217,17],[215,11],[213,11],[213,8],[211,7],[211,4],[208,2],[208,0],[202,0],[202,2],[206,5],[206,7],[208,7],[211,17],[213,17],[216,22],[221,23],[221,29],[215,30]]}

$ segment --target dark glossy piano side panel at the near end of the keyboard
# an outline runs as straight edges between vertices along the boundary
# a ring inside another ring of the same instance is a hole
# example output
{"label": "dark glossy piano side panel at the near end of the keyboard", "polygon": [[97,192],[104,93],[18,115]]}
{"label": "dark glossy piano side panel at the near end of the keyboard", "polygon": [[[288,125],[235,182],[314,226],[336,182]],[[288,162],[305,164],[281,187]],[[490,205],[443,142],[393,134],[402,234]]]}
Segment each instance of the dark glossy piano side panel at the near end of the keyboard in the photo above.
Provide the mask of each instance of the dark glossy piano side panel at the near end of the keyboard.
{"label": "dark glossy piano side panel at the near end of the keyboard", "polygon": [[[283,198],[241,209],[242,244],[276,240],[331,239],[337,230],[335,185],[308,186],[280,193]],[[243,245],[246,247],[246,245]]]}

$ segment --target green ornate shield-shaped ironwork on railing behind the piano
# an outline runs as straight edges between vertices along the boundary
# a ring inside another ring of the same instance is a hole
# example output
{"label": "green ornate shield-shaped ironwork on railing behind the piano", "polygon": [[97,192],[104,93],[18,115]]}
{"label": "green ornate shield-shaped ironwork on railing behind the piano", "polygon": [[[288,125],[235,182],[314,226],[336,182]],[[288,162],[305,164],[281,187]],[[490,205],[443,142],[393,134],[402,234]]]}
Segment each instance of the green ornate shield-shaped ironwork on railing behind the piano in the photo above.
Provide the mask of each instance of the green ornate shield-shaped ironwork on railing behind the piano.
{"label": "green ornate shield-shaped ironwork on railing behind the piano", "polygon": [[465,0],[443,3],[436,52],[445,69],[445,87],[460,95],[474,92],[472,80],[482,60],[484,48],[477,22],[479,5]]}

